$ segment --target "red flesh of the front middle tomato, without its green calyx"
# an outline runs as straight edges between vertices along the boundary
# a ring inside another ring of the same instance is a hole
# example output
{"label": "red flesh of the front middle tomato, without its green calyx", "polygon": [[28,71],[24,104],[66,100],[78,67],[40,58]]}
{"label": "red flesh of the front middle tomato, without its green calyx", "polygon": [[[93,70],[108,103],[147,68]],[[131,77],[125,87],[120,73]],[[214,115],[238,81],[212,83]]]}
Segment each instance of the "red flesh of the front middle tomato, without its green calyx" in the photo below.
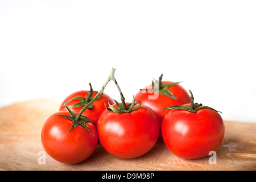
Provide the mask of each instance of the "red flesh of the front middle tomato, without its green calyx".
{"label": "red flesh of the front middle tomato, without its green calyx", "polygon": [[105,150],[123,159],[146,154],[159,136],[158,118],[144,105],[130,113],[105,110],[98,119],[97,128],[100,143]]}

